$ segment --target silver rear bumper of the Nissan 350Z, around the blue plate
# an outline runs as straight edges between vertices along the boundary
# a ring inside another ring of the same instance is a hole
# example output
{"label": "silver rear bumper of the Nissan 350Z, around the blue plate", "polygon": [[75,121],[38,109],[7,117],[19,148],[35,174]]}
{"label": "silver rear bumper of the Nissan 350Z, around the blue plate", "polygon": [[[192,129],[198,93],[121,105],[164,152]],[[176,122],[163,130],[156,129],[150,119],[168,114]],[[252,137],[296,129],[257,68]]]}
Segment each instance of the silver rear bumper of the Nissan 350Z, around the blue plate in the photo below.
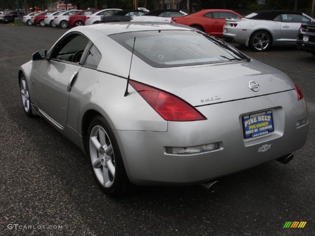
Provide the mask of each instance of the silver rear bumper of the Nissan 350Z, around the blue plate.
{"label": "silver rear bumper of the Nissan 350Z, around the blue plate", "polygon": [[[139,185],[186,185],[241,171],[276,160],[301,148],[308,132],[304,99],[295,90],[222,104],[198,107],[208,120],[168,122],[167,132],[114,131],[128,177]],[[295,99],[295,100],[293,100]],[[274,105],[277,101],[277,106]],[[243,138],[241,117],[272,110],[273,132]],[[167,154],[166,147],[192,147],[220,143],[220,149],[192,155]],[[261,151],[264,145],[269,149]]]}

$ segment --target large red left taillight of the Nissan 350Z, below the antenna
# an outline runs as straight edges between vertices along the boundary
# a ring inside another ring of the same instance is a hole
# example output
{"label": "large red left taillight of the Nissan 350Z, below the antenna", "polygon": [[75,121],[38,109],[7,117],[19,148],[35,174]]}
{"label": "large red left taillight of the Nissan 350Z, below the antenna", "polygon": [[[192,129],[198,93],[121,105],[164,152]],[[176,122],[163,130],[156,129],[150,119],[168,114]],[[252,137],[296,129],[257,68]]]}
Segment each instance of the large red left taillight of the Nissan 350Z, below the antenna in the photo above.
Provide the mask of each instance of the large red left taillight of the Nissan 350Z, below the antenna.
{"label": "large red left taillight of the Nissan 350Z, below the antenna", "polygon": [[166,121],[201,121],[206,118],[195,108],[172,94],[129,81],[140,96]]}

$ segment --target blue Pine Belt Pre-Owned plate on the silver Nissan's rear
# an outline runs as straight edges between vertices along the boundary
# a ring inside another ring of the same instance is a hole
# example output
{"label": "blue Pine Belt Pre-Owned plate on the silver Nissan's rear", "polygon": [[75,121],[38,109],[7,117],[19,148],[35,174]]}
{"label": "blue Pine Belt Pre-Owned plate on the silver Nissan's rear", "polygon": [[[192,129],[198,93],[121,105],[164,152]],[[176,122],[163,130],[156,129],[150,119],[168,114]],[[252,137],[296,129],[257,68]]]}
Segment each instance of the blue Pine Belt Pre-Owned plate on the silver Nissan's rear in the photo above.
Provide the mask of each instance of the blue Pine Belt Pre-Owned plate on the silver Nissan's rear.
{"label": "blue Pine Belt Pre-Owned plate on the silver Nissan's rear", "polygon": [[274,131],[272,111],[242,116],[244,138],[258,137]]}

